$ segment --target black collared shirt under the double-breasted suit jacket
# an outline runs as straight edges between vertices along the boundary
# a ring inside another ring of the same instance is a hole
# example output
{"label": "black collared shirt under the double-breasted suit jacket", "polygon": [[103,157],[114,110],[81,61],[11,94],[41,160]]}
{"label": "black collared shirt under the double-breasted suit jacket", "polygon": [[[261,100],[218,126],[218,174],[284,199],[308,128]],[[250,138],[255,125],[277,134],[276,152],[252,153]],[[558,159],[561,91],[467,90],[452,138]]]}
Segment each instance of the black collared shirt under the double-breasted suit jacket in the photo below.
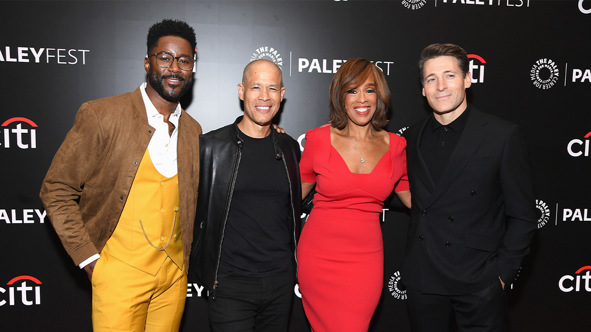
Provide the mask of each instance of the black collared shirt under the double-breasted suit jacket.
{"label": "black collared shirt under the double-breasted suit jacket", "polygon": [[419,149],[435,184],[439,182],[449,157],[456,148],[457,141],[462,135],[462,129],[466,125],[469,112],[470,105],[460,116],[447,125],[439,123],[435,116],[431,114],[431,118],[425,126],[421,135]]}

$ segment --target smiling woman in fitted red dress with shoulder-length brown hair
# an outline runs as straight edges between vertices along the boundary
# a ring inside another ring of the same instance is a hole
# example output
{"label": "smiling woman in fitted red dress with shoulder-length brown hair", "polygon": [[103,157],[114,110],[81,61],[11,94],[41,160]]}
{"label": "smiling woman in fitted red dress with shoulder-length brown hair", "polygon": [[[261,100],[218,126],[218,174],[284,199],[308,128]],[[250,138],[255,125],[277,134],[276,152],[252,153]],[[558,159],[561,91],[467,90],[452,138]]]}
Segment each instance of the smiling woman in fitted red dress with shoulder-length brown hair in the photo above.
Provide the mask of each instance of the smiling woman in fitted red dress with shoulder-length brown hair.
{"label": "smiling woman in fitted red dress with shoulder-length brown hair", "polygon": [[395,190],[410,207],[406,141],[381,129],[389,102],[382,71],[351,59],[330,83],[330,125],[306,134],[302,193],[317,193],[297,261],[314,332],[368,330],[384,283],[382,202]]}

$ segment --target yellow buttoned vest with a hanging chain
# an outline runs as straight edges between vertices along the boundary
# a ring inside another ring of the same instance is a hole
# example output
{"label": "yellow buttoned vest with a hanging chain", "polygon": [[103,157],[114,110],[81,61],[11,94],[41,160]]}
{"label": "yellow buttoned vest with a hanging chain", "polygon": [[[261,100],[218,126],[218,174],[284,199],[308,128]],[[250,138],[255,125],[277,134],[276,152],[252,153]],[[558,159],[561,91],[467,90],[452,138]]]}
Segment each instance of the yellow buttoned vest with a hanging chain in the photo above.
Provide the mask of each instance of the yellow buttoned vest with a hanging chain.
{"label": "yellow buttoned vest with a hanging chain", "polygon": [[151,275],[158,273],[167,256],[179,269],[184,267],[178,177],[160,174],[148,149],[135,174],[119,223],[103,250]]}

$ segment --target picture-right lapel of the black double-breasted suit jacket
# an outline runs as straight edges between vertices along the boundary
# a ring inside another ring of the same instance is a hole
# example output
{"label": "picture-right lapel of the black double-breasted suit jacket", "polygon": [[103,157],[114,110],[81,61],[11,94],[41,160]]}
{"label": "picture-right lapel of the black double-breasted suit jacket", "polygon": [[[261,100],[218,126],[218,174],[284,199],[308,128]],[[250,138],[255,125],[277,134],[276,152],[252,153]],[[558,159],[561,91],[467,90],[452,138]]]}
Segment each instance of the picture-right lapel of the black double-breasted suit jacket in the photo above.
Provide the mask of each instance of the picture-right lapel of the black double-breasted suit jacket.
{"label": "picture-right lapel of the black double-breasted suit jacket", "polygon": [[483,119],[482,112],[472,107],[456,148],[450,156],[449,162],[447,162],[446,168],[443,170],[443,174],[441,174],[437,187],[434,191],[431,191],[432,195],[427,199],[424,208],[435,203],[462,173],[478,147],[480,147],[480,144],[482,144],[486,134],[488,134],[488,131],[484,127],[486,123],[488,121]]}

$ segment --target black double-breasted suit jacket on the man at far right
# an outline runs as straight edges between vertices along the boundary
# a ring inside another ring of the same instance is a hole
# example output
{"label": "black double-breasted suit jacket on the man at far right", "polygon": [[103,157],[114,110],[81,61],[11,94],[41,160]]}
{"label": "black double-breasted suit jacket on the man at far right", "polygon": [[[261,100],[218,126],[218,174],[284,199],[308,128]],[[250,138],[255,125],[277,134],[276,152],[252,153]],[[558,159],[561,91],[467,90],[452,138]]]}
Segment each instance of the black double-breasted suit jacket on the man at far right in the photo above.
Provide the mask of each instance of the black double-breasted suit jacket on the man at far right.
{"label": "black double-breasted suit jacket on the man at far right", "polygon": [[471,106],[437,185],[419,150],[428,118],[404,132],[412,203],[402,283],[428,294],[511,283],[537,227],[521,129]]}

